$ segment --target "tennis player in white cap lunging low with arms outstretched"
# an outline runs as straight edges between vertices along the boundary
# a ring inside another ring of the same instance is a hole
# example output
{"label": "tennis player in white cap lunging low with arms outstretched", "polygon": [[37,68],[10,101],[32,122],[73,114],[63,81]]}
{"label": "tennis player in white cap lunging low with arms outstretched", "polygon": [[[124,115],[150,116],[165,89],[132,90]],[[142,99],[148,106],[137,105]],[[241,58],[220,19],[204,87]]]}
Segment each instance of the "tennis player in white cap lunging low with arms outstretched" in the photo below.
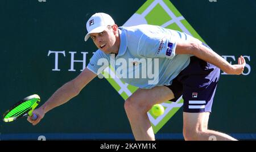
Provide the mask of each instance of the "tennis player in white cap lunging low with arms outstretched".
{"label": "tennis player in white cap lunging low with arms outstretched", "polygon": [[[88,66],[75,79],[60,87],[41,107],[34,112],[38,119],[28,121],[39,123],[49,110],[68,102],[95,78],[106,66],[98,61],[127,61],[122,66],[124,73],[145,69],[158,64],[157,78],[128,77],[121,80],[139,87],[125,101],[125,111],[135,140],[155,140],[154,132],[147,116],[152,105],[163,101],[175,102],[183,95],[183,135],[185,140],[236,140],[228,134],[208,129],[208,119],[212,112],[213,98],[220,78],[220,69],[228,74],[240,75],[245,67],[245,59],[240,56],[238,64],[230,65],[200,40],[187,33],[152,25],[118,27],[112,17],[96,13],[86,23],[89,37],[98,48]],[[114,58],[113,58],[114,55]],[[129,59],[139,59],[129,63]],[[133,66],[133,70],[129,67]],[[118,68],[117,64],[114,65]],[[141,67],[141,68],[139,68]]]}

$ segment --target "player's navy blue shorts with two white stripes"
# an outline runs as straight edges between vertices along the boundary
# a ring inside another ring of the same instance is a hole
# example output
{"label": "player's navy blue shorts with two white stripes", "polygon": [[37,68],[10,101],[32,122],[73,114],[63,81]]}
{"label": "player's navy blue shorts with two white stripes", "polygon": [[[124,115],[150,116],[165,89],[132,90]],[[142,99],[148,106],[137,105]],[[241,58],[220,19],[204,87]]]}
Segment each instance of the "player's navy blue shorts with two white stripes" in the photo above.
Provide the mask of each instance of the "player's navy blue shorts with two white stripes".
{"label": "player's navy blue shorts with two white stripes", "polygon": [[216,91],[220,69],[195,56],[190,58],[189,65],[181,71],[167,86],[174,92],[176,102],[183,95],[184,112],[212,112],[212,103]]}

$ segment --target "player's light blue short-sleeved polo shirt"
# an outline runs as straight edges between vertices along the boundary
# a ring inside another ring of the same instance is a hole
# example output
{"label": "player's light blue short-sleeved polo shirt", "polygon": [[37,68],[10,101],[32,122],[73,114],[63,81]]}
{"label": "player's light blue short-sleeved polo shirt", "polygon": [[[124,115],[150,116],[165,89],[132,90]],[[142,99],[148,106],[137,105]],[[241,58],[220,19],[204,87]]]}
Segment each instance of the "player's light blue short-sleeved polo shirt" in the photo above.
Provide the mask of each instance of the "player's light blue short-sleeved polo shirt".
{"label": "player's light blue short-sleeved polo shirt", "polygon": [[195,39],[192,36],[147,24],[119,27],[118,31],[121,44],[117,56],[98,49],[87,65],[93,73],[100,74],[105,67],[112,65],[123,82],[139,88],[152,88],[171,85],[189,64],[192,55],[175,54],[175,49],[177,41]]}

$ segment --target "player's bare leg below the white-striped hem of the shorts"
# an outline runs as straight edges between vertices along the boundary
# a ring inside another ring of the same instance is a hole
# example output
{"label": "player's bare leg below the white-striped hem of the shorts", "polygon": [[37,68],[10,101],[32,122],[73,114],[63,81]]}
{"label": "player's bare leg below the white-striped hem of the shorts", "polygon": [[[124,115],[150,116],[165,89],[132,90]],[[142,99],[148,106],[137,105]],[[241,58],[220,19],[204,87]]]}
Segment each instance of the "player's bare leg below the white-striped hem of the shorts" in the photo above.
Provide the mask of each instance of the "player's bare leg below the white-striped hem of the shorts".
{"label": "player's bare leg below the white-striped hem of the shorts", "polygon": [[183,135],[185,140],[236,140],[228,134],[208,129],[209,112],[183,112]]}

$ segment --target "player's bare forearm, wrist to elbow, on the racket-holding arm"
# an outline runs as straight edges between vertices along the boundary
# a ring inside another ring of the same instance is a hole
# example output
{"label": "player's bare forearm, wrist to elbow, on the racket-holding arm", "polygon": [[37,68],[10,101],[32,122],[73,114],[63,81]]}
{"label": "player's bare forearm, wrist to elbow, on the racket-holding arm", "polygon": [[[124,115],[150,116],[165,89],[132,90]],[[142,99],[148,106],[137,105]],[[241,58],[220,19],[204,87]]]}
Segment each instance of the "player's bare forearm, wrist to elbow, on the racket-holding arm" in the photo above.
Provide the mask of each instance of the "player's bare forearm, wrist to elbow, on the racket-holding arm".
{"label": "player's bare forearm, wrist to elbow, on the racket-holding arm", "polygon": [[65,85],[60,87],[40,108],[47,113],[51,109],[68,102],[78,94],[79,91],[75,89],[73,82],[67,82]]}

